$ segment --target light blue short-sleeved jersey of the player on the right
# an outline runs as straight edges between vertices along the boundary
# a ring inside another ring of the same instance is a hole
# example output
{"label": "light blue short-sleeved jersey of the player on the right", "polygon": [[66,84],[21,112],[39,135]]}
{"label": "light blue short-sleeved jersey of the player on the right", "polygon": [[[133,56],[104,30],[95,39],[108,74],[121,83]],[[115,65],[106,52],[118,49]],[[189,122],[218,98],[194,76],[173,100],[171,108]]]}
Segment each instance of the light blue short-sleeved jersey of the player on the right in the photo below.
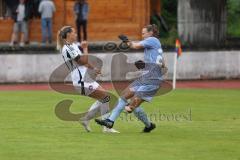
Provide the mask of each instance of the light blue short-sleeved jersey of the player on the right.
{"label": "light blue short-sleeved jersey of the player on the right", "polygon": [[155,37],[149,37],[140,42],[144,47],[145,70],[149,71],[143,77],[147,79],[162,79],[159,62],[163,59],[163,50],[160,41]]}

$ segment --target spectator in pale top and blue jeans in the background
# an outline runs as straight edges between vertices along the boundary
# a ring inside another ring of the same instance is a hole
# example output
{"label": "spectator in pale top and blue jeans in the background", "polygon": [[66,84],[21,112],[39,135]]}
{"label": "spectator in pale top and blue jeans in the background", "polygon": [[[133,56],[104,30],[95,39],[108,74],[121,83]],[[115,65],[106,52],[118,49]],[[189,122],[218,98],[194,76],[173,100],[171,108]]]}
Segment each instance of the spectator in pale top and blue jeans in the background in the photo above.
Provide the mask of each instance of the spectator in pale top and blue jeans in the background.
{"label": "spectator in pale top and blue jeans in the background", "polygon": [[52,0],[42,0],[39,8],[39,13],[41,13],[42,19],[42,43],[46,44],[52,43],[52,17],[53,13],[56,11],[55,5]]}

